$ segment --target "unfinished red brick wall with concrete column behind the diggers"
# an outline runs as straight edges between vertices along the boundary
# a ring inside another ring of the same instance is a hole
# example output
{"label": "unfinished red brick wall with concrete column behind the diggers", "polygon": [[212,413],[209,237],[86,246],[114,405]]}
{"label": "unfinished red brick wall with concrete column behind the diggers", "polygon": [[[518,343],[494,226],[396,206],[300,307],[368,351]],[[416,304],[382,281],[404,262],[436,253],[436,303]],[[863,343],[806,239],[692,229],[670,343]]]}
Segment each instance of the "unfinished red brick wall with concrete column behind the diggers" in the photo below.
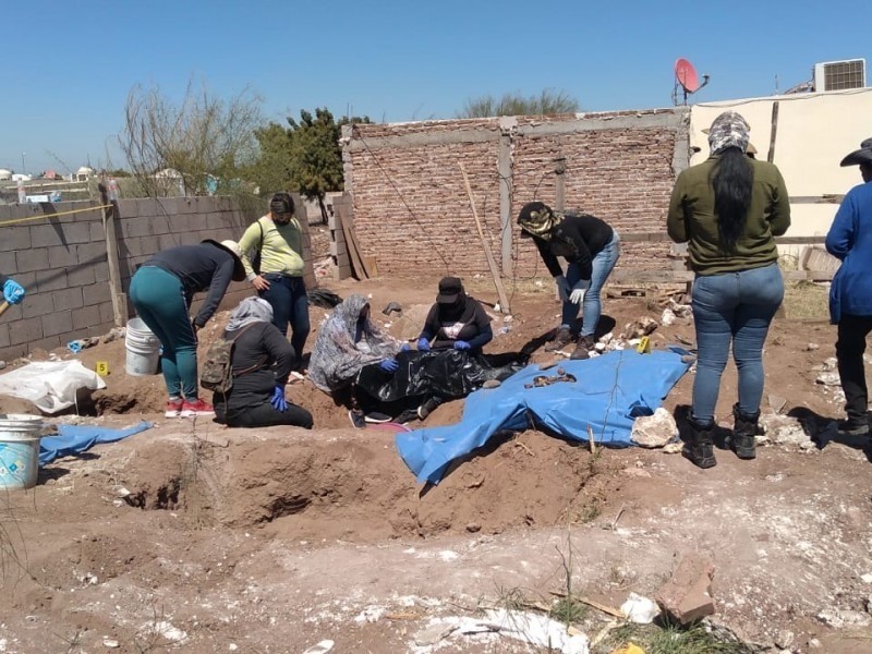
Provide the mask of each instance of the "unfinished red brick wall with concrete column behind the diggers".
{"label": "unfinished red brick wall with concrete column behind the diggers", "polygon": [[[688,165],[686,109],[429,121],[347,128],[346,187],[361,249],[383,274],[487,272],[460,164],[494,258],[507,277],[546,276],[516,218],[526,202],[564,206],[619,232],[665,230]],[[625,243],[619,266],[668,268],[666,244]]]}

